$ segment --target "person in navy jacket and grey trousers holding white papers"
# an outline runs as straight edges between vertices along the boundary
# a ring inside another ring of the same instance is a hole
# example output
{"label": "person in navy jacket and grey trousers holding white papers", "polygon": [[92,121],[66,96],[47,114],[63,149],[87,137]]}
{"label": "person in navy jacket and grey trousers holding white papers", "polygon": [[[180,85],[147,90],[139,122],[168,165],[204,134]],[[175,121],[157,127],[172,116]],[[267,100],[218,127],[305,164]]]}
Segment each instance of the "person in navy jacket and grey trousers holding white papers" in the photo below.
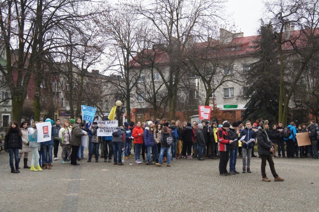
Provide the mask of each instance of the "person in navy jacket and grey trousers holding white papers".
{"label": "person in navy jacket and grey trousers holding white papers", "polygon": [[[241,139],[242,137],[244,138]],[[248,173],[251,173],[250,159],[251,159],[251,151],[252,151],[252,148],[254,148],[254,144],[256,141],[255,138],[256,138],[256,132],[251,127],[251,121],[246,121],[246,127],[245,129],[240,131],[240,138],[239,138],[242,141],[242,148],[243,148],[243,172],[242,173],[246,173],[246,171]],[[253,141],[251,139],[253,139]]]}

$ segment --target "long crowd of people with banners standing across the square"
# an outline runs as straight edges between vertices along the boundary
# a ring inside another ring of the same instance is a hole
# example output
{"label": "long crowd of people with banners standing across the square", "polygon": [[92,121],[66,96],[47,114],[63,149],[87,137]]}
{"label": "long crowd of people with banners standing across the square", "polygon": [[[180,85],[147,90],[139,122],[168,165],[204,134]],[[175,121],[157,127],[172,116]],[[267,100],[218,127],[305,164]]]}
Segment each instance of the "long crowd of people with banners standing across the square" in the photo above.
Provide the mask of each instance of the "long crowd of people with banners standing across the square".
{"label": "long crowd of people with banners standing across the square", "polygon": [[[319,127],[311,122],[299,125],[296,128],[294,122],[287,126],[282,123],[272,125],[270,128],[267,120],[257,123],[251,121],[233,122],[230,124],[224,121],[217,125],[216,122],[202,121],[183,122],[170,121],[167,119],[141,122],[125,122],[124,126],[118,127],[112,136],[98,137],[97,118],[93,123],[84,124],[81,118],[65,120],[63,125],[57,119],[55,121],[46,119],[52,124],[51,140],[37,142],[36,123],[28,126],[22,122],[19,126],[13,121],[8,127],[4,148],[9,152],[9,164],[11,173],[19,173],[19,162],[23,156],[24,169],[33,172],[44,169],[51,170],[52,161],[58,161],[59,145],[62,148],[61,163],[80,165],[77,161],[86,160],[84,157],[84,146],[81,144],[82,136],[88,135],[89,154],[87,162],[99,162],[99,157],[104,162],[111,163],[113,156],[114,165],[123,165],[124,160],[135,158],[135,164],[145,163],[146,165],[171,166],[171,161],[181,158],[199,161],[205,159],[219,159],[219,174],[221,176],[239,174],[236,169],[237,158],[242,158],[242,173],[251,173],[251,157],[254,154],[254,146],[258,145],[258,155],[261,158],[262,180],[269,182],[266,175],[266,162],[268,161],[275,181],[283,181],[276,173],[273,158],[307,158],[318,159],[318,138]],[[308,132],[312,145],[298,146],[296,134]],[[134,145],[132,145],[132,143]],[[285,144],[286,150],[285,151]],[[134,155],[132,154],[134,149]],[[101,149],[101,153],[100,150]],[[52,158],[52,150],[54,157]],[[28,153],[32,152],[30,167]],[[285,154],[287,153],[287,154]],[[142,156],[142,159],[141,159]],[[15,164],[13,164],[13,158]],[[229,171],[227,171],[229,161]]]}

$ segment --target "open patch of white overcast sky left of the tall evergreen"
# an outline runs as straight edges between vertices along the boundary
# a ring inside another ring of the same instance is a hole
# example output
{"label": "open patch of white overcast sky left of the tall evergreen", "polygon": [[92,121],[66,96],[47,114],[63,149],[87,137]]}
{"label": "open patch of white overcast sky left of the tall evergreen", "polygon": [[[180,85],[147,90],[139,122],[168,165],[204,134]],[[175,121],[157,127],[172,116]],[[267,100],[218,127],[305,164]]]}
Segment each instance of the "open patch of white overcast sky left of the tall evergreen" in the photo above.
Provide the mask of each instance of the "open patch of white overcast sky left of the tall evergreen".
{"label": "open patch of white overcast sky left of the tall evergreen", "polygon": [[244,36],[257,34],[264,11],[263,0],[228,0],[225,9],[229,19],[237,26],[236,32],[244,32]]}

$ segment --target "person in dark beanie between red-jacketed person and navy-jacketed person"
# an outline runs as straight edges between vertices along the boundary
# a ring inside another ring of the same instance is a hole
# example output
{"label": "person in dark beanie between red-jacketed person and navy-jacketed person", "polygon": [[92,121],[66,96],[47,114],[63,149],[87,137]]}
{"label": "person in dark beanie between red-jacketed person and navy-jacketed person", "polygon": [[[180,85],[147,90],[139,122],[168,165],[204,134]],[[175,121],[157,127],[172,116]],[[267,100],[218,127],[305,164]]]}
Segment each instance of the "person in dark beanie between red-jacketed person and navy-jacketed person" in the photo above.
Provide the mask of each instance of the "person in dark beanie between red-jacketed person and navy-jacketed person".
{"label": "person in dark beanie between red-jacketed person and navy-jacketed person", "polygon": [[227,130],[228,138],[233,140],[232,144],[229,144],[229,174],[235,175],[239,174],[236,171],[236,160],[237,160],[237,152],[238,152],[238,131],[239,125],[237,122],[233,122],[230,128]]}

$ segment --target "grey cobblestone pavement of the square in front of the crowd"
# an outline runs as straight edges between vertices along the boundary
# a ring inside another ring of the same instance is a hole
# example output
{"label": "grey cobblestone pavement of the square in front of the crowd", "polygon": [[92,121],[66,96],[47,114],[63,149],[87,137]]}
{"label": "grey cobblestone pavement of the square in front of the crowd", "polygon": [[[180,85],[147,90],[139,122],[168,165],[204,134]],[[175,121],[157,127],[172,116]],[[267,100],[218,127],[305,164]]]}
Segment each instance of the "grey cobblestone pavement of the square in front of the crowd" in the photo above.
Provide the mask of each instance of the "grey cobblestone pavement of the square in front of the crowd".
{"label": "grey cobblestone pavement of the square in front of the crowd", "polygon": [[[0,211],[318,212],[319,160],[274,161],[284,182],[274,182],[268,165],[271,182],[262,182],[259,158],[252,158],[251,174],[227,177],[219,176],[219,161],[211,159],[180,159],[171,167],[135,165],[133,158],[124,166],[102,160],[71,166],[59,160],[43,172],[23,169],[21,161],[21,173],[10,174],[9,155],[2,151]],[[242,159],[236,167],[242,170]]]}

